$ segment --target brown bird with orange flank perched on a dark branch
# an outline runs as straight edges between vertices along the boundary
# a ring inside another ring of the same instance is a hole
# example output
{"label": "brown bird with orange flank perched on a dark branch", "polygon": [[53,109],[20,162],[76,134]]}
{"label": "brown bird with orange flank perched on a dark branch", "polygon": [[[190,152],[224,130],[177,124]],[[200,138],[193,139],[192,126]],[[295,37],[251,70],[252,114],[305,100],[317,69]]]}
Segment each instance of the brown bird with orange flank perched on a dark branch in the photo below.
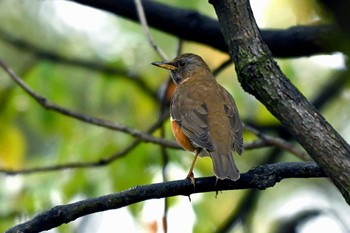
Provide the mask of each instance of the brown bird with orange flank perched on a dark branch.
{"label": "brown bird with orange flank perched on a dark branch", "polygon": [[170,70],[176,89],[170,105],[175,139],[195,154],[187,178],[194,184],[197,156],[210,156],[217,179],[239,179],[232,151],[242,154],[242,122],[233,97],[217,83],[208,65],[186,53],[170,62],[153,62]]}

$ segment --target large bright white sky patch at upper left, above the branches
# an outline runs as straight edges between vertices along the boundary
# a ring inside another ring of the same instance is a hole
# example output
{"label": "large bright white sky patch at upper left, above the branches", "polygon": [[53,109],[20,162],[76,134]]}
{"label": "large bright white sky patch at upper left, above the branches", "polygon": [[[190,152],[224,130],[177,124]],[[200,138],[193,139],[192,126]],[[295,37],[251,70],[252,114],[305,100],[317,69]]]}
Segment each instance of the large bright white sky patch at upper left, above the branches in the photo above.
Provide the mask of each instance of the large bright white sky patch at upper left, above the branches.
{"label": "large bright white sky patch at upper left, above the branches", "polygon": [[118,17],[108,12],[69,1],[45,1],[42,11],[59,33],[79,34],[103,58],[114,58],[132,41],[121,32]]}

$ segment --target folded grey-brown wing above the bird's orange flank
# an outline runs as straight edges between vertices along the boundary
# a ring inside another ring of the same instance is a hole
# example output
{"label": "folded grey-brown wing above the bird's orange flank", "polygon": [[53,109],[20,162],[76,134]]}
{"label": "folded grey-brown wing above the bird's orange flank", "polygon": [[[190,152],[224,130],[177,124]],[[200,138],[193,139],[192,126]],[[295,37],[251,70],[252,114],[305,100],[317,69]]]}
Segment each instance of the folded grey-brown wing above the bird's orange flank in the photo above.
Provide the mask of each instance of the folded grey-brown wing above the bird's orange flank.
{"label": "folded grey-brown wing above the bird's orange flank", "polygon": [[[182,105],[183,106],[183,105]],[[183,133],[191,140],[195,147],[208,151],[214,150],[214,144],[208,131],[208,108],[201,104],[186,105],[192,109],[179,108],[171,105],[171,117],[181,127]]]}

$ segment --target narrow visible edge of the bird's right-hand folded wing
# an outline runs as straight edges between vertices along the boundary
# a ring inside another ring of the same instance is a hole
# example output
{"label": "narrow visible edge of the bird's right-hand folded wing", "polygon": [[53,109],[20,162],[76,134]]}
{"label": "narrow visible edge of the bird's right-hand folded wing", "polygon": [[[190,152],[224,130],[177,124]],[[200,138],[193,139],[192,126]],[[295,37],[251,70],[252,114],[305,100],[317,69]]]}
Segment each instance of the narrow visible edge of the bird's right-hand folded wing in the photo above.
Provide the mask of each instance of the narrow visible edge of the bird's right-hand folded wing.
{"label": "narrow visible edge of the bird's right-hand folded wing", "polygon": [[232,147],[236,150],[238,154],[242,154],[243,152],[243,136],[242,136],[242,123],[239,119],[238,110],[236,107],[236,104],[231,97],[231,95],[227,94],[225,95],[226,101],[224,104],[226,115],[229,118],[230,122],[230,128],[231,128],[231,135],[233,138],[233,145]]}

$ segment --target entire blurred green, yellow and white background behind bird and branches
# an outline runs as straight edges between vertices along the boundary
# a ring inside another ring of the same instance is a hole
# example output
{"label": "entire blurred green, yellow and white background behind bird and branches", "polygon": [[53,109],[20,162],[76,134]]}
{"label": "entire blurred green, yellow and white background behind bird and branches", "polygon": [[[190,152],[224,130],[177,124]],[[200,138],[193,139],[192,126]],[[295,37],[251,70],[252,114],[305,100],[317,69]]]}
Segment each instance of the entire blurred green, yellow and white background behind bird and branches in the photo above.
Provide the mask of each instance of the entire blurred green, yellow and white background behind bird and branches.
{"label": "entire blurred green, yellow and white background behind bird and branches", "polygon": [[[216,19],[206,1],[162,1]],[[316,1],[253,0],[260,28],[329,23]],[[35,92],[81,114],[147,131],[160,116],[162,86],[168,73],[150,65],[161,60],[142,27],[111,13],[70,1],[0,1],[0,59]],[[169,58],[178,38],[151,29]],[[212,69],[229,57],[205,45],[184,41],[182,52],[199,54]],[[350,85],[341,53],[277,59],[292,83],[314,100],[338,80],[332,98],[319,106],[324,117],[350,141]],[[237,81],[228,66],[218,81],[234,96],[242,120],[264,133],[285,131]],[[340,81],[339,81],[340,80]],[[168,120],[154,136],[173,140]],[[256,136],[245,131],[246,142]],[[95,162],[120,153],[132,136],[83,123],[36,103],[0,70],[0,231],[53,206],[186,176],[192,155],[182,150],[140,143],[106,166],[11,175],[6,171],[74,162]],[[296,147],[299,147],[295,142]],[[166,155],[166,156],[165,156]],[[273,147],[235,156],[238,167],[277,161],[300,161]],[[166,159],[165,159],[166,158]],[[166,169],[164,163],[168,160]],[[197,160],[195,175],[211,176],[209,158]],[[350,208],[327,179],[288,179],[273,188],[227,191],[167,200],[168,232],[350,232]],[[50,232],[163,232],[164,200],[80,218]]]}

